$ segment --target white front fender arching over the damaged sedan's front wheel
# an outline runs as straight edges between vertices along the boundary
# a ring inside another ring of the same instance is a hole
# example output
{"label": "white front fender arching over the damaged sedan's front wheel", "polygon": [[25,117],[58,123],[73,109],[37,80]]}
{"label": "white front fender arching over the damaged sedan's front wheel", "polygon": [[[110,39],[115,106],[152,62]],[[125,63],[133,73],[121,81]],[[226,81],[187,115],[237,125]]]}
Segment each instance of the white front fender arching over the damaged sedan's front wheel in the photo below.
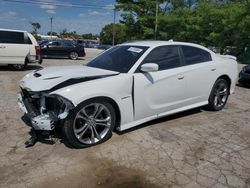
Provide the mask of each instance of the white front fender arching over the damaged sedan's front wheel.
{"label": "white front fender arching over the damaged sedan's front wheel", "polygon": [[132,74],[119,74],[70,85],[53,91],[51,94],[67,98],[74,106],[96,97],[110,98],[119,107],[121,124],[125,124],[134,120],[132,83]]}

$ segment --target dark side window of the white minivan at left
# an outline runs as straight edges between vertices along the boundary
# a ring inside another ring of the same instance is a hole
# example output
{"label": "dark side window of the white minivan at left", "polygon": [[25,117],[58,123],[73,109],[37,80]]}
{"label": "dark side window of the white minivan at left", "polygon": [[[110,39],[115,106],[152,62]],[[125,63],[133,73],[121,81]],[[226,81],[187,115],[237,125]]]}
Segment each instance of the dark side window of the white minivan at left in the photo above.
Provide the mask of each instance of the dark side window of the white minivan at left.
{"label": "dark side window of the white minivan at left", "polygon": [[0,43],[24,44],[24,33],[14,31],[0,31]]}

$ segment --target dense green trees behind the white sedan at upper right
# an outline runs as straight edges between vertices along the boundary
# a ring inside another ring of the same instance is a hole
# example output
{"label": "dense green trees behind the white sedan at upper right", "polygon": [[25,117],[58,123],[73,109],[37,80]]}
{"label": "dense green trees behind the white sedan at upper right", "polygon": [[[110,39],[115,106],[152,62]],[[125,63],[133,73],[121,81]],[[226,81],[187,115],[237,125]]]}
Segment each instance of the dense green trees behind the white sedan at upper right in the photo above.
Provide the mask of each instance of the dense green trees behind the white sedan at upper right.
{"label": "dense green trees behind the white sedan at upper right", "polygon": [[[117,0],[116,9],[123,12],[115,24],[116,43],[173,39],[218,47],[221,53],[231,47],[238,57],[250,45],[249,0]],[[112,43],[112,28],[102,29],[101,42]]]}

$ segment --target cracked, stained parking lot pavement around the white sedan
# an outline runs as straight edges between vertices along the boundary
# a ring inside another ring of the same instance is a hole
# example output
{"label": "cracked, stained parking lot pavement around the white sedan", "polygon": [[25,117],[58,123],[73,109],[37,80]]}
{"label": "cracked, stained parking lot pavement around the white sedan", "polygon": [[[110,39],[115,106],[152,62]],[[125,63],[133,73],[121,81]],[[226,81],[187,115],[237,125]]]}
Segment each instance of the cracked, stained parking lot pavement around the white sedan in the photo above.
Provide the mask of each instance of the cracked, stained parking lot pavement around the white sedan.
{"label": "cracked, stained parking lot pavement around the white sedan", "polygon": [[[42,67],[84,64],[98,53],[44,59]],[[39,67],[0,67],[0,187],[250,187],[249,88],[237,86],[222,111],[189,110],[95,147],[72,149],[58,137],[25,148],[18,81]]]}

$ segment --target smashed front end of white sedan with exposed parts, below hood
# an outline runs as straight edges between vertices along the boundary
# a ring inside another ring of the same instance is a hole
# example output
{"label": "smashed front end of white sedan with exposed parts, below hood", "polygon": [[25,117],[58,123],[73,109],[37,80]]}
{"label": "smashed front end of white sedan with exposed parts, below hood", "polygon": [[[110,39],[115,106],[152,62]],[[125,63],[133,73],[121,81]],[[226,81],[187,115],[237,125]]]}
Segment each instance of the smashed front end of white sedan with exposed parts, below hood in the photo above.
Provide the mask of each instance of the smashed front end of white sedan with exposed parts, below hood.
{"label": "smashed front end of white sedan with exposed parts, below hood", "polygon": [[58,122],[65,120],[74,105],[64,97],[49,91],[32,92],[22,89],[18,105],[24,112],[23,121],[34,130],[54,130]]}

